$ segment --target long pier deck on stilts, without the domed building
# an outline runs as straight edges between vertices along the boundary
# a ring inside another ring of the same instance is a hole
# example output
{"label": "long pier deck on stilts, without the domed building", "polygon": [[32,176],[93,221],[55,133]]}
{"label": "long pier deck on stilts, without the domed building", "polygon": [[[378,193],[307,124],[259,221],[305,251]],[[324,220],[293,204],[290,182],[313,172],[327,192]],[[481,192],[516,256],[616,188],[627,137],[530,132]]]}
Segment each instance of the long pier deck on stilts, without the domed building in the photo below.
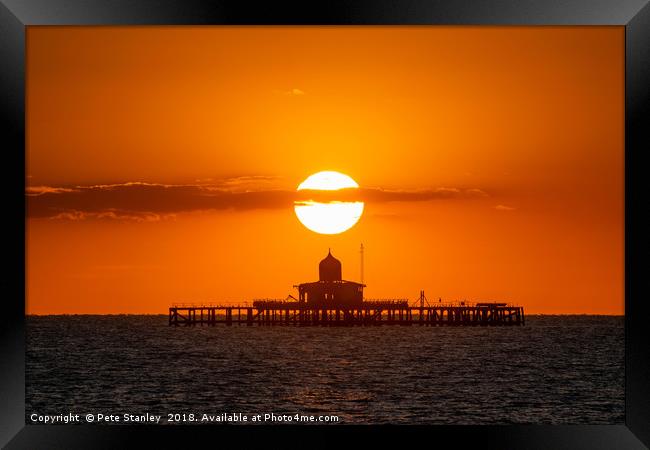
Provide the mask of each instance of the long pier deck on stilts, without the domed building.
{"label": "long pier deck on stilts, without the domed building", "polygon": [[405,300],[364,301],[358,306],[313,306],[262,300],[253,306],[176,304],[170,326],[521,326],[522,306],[483,302],[471,305],[409,306]]}

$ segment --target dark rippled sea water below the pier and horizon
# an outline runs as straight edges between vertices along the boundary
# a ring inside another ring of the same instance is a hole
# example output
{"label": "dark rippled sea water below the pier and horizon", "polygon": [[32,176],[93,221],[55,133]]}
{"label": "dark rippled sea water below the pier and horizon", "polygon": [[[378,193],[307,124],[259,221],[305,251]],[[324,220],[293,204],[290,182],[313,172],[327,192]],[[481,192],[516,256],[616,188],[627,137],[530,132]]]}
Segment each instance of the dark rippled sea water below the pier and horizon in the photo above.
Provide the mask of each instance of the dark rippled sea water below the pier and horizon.
{"label": "dark rippled sea water below the pier and horizon", "polygon": [[27,348],[27,417],[624,421],[622,317],[529,316],[525,327],[503,328],[170,328],[165,316],[46,316],[28,317]]}

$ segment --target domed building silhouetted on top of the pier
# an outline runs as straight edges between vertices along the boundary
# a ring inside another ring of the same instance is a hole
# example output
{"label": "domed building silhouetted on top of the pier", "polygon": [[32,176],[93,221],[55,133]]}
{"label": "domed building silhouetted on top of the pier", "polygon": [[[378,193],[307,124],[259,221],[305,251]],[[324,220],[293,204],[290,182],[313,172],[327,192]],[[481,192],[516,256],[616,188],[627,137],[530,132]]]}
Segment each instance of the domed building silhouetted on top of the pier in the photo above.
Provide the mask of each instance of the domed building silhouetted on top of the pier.
{"label": "domed building silhouetted on top of the pier", "polygon": [[298,301],[310,306],[360,306],[365,284],[343,280],[341,261],[328,252],[318,265],[318,281],[302,283]]}

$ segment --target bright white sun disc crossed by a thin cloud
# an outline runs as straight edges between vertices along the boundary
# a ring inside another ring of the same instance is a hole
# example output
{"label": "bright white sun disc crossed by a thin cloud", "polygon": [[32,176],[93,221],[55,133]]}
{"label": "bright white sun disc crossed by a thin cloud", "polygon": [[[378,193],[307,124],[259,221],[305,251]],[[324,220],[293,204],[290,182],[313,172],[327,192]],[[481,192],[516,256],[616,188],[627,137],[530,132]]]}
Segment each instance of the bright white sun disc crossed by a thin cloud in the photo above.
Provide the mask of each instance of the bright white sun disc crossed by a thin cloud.
{"label": "bright white sun disc crossed by a thin cloud", "polygon": [[[345,188],[358,189],[359,185],[348,175],[328,170],[310,175],[298,185],[297,190],[336,191]],[[339,234],[349,230],[359,221],[363,206],[364,203],[358,201],[324,203],[305,200],[295,202],[294,209],[298,220],[311,231]]]}

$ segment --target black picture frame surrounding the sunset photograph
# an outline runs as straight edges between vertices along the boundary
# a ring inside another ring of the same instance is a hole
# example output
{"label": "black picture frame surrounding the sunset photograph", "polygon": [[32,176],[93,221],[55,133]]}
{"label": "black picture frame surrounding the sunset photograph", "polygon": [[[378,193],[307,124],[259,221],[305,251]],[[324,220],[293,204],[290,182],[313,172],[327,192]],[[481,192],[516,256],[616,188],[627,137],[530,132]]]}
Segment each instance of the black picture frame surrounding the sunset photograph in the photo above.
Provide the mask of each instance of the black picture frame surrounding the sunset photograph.
{"label": "black picture frame surrounding the sunset photograph", "polygon": [[[256,441],[338,445],[352,432],[387,445],[627,449],[650,446],[649,0],[0,0],[0,92],[5,192],[0,326],[0,444],[7,448],[185,447]],[[625,27],[625,425],[435,427],[157,427],[25,424],[25,29],[35,25],[619,25]],[[299,438],[296,438],[299,436]],[[235,441],[230,441],[235,439]],[[273,444],[275,443],[275,444]],[[164,444],[164,445],[162,445]],[[235,444],[233,444],[235,445]]]}

